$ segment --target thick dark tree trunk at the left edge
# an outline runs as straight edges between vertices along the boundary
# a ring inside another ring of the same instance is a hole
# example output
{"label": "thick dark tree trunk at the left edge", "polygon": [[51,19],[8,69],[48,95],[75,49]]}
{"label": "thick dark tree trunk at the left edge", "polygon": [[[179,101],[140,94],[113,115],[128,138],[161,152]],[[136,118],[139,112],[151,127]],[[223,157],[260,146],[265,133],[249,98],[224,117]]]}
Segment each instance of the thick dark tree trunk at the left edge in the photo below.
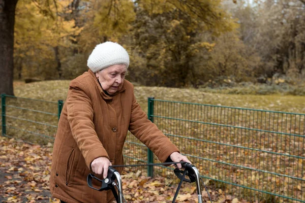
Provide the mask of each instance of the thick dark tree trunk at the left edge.
{"label": "thick dark tree trunk at the left edge", "polygon": [[14,95],[13,53],[15,10],[18,0],[0,0],[0,93]]}

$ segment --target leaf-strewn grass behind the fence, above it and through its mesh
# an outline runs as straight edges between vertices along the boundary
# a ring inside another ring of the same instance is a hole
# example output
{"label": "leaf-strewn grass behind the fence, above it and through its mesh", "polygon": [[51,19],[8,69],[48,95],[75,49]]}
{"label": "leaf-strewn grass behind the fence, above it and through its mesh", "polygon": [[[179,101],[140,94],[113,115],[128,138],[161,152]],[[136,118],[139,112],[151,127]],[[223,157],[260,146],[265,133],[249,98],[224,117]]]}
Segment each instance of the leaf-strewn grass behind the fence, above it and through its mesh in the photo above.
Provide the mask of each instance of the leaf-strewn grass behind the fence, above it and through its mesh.
{"label": "leaf-strewn grass behind the fence, above it and through its mesh", "polygon": [[[18,97],[42,99],[47,101],[56,102],[58,99],[65,100],[68,92],[69,81],[44,81],[24,84],[22,82],[15,83],[14,91]],[[248,93],[253,93],[252,87],[249,87]],[[231,91],[231,92],[230,92]],[[265,92],[268,92],[266,90]],[[237,127],[261,128],[271,131],[284,131],[287,133],[301,134],[303,126],[301,125],[303,117],[287,116],[289,114],[279,113],[266,113],[252,110],[237,110],[236,112],[228,111],[227,107],[240,107],[249,109],[261,109],[267,111],[281,111],[281,112],[294,112],[305,113],[305,96],[295,96],[285,94],[283,92],[276,92],[275,94],[243,94],[236,90],[219,89],[193,89],[193,88],[165,88],[165,87],[135,87],[135,95],[138,103],[147,112],[147,97],[155,97],[162,100],[184,101],[188,103],[198,103],[206,105],[215,105],[215,107],[206,107],[207,109],[199,111],[196,105],[178,105],[172,107],[168,104],[161,104],[160,108],[157,107],[156,115],[165,115],[168,117],[176,116],[177,118],[213,122],[223,125],[236,125]],[[247,92],[245,87],[244,92]],[[35,109],[37,111],[57,112],[57,105],[53,103],[42,103],[41,101],[27,99],[12,99],[8,101],[12,106],[19,106],[25,109]],[[157,104],[157,103],[156,103]],[[159,108],[159,110],[158,110]],[[10,110],[8,110],[10,111]],[[22,117],[27,120],[36,120],[38,122],[47,122],[56,125],[56,116],[40,115],[38,113],[27,112],[26,110],[11,110],[14,116]],[[191,113],[190,113],[191,112]],[[240,112],[240,113],[238,113]],[[240,115],[243,115],[240,117]],[[284,115],[284,116],[283,116]],[[285,116],[286,115],[286,116]],[[186,117],[187,116],[187,117]],[[207,120],[206,120],[207,119]],[[273,120],[272,120],[273,119]],[[234,122],[233,122],[234,120]],[[252,122],[250,122],[253,120]],[[298,121],[298,122],[296,122]],[[47,133],[53,137],[56,129],[49,126],[33,125],[28,121],[21,120],[20,122],[14,119],[7,119],[7,123],[15,128],[26,126],[26,130],[33,130],[39,133]],[[171,137],[171,140],[179,146],[179,149],[187,154],[196,155],[198,157],[205,157],[212,160],[226,161],[230,164],[240,164],[247,167],[259,168],[260,170],[270,171],[274,173],[282,173],[302,178],[304,172],[303,159],[296,159],[286,157],[284,155],[273,155],[272,153],[289,153],[291,155],[304,156],[302,146],[304,141],[302,138],[295,138],[291,136],[281,136],[278,133],[270,132],[257,132],[253,130],[240,130],[239,128],[228,128],[224,126],[214,126],[204,123],[196,122],[180,122],[178,120],[166,120],[155,118],[155,123],[158,124],[160,129],[167,134],[178,134],[184,137],[193,137],[201,141],[194,141],[187,138]],[[296,124],[293,124],[296,123]],[[40,142],[36,140],[37,136],[28,136],[28,133],[20,133],[18,130],[10,129],[11,134],[17,135],[19,138],[28,138],[31,141]],[[138,142],[135,137],[129,136],[130,142]],[[212,143],[206,143],[202,140],[208,140]],[[43,144],[51,142],[50,139],[43,139]],[[226,145],[222,145],[226,144]],[[240,148],[256,148],[259,150],[252,151],[249,149]],[[125,155],[131,157],[139,156],[146,158],[146,150],[143,147],[135,146],[133,144],[126,144]],[[305,149],[305,148],[304,148]],[[134,160],[126,158],[128,163],[135,163]],[[305,198],[299,192],[305,188],[304,181],[296,181],[293,183],[291,179],[279,177],[278,175],[265,175],[262,172],[255,172],[245,168],[236,168],[228,164],[221,164],[218,162],[210,162],[193,158],[193,163],[200,170],[200,174],[206,177],[219,178],[227,182],[246,185],[248,187],[257,187],[257,189],[273,191],[275,187],[279,187],[285,195],[298,196],[298,198]],[[273,164],[275,163],[275,164]],[[141,169],[145,173],[145,168]],[[156,171],[166,173],[164,168],[157,168]],[[170,174],[166,174],[170,175]],[[218,183],[217,184],[223,184]],[[287,184],[288,183],[288,184]],[[211,187],[213,187],[211,185]],[[214,186],[215,187],[215,186]],[[230,190],[232,187],[222,189]],[[240,187],[233,188],[236,193],[246,195],[247,191],[242,190]],[[225,191],[225,192],[228,192]],[[257,194],[254,194],[257,195]],[[250,195],[253,197],[253,194]],[[258,195],[259,196],[259,195]],[[266,197],[264,197],[267,199]],[[271,198],[271,197],[270,197]],[[268,200],[267,200],[268,201]],[[272,200],[271,200],[272,201]]]}

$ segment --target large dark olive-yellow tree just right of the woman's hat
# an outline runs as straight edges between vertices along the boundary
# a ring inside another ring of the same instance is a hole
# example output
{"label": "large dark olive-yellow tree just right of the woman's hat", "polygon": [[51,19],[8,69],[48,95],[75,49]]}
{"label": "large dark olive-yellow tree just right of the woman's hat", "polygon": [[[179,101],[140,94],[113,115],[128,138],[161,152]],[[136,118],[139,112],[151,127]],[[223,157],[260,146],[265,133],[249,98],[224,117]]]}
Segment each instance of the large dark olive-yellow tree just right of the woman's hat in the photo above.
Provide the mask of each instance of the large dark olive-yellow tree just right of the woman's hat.
{"label": "large dark olive-yellow tree just right of the woman's hat", "polygon": [[204,31],[217,37],[237,25],[223,9],[221,1],[136,1],[133,46],[140,48],[146,61],[151,86],[197,86],[192,61],[199,50],[209,50],[213,40],[202,37]]}

